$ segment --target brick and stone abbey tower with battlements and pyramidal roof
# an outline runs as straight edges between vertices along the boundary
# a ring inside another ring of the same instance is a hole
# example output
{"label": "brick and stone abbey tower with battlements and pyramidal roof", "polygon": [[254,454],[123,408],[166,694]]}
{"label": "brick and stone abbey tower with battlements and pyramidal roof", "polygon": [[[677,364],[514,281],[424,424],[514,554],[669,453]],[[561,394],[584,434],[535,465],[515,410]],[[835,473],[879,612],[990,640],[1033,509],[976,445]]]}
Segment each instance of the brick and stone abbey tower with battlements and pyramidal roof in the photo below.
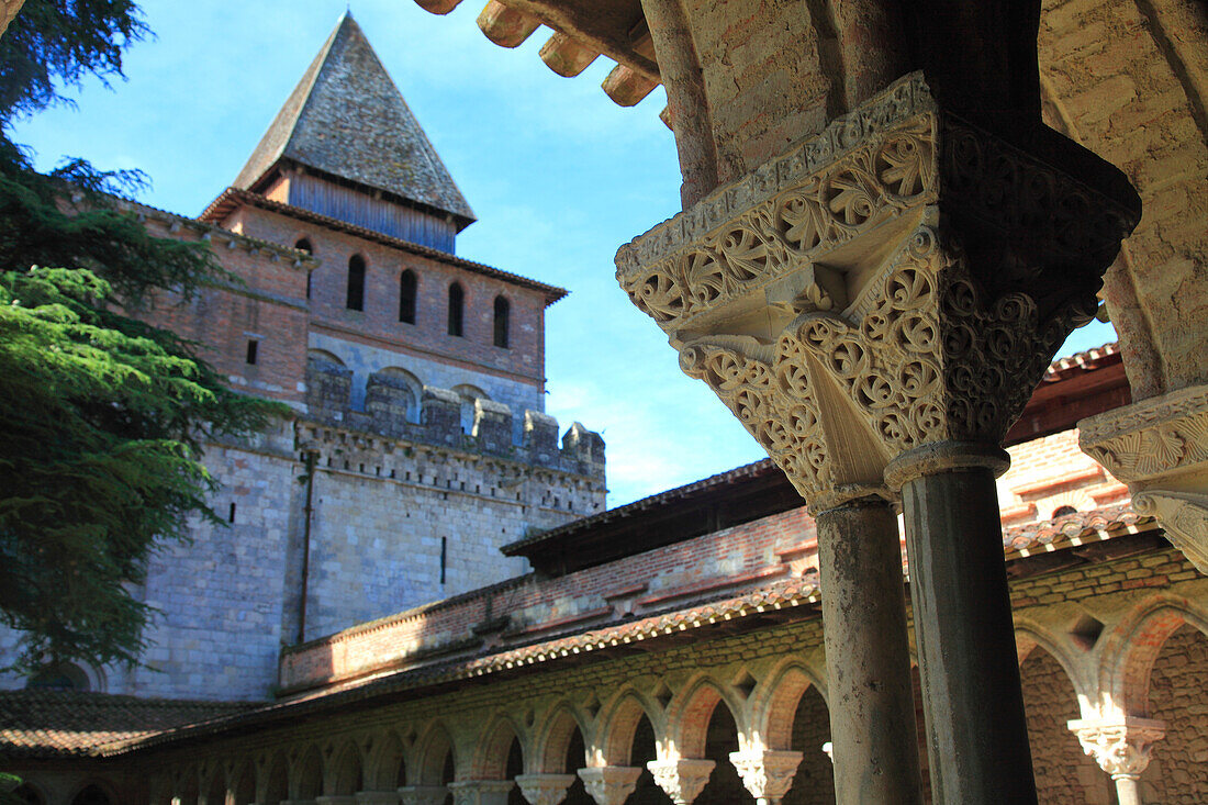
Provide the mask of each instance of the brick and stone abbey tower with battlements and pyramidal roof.
{"label": "brick and stone abbey tower with battlements and pyramidal roof", "polygon": [[457,255],[474,212],[350,15],[201,216],[133,212],[242,280],[152,318],[294,415],[208,445],[227,522],[151,560],[147,667],[85,687],[263,699],[283,645],[521,575],[503,545],[604,509],[603,440],[544,412],[567,291]]}

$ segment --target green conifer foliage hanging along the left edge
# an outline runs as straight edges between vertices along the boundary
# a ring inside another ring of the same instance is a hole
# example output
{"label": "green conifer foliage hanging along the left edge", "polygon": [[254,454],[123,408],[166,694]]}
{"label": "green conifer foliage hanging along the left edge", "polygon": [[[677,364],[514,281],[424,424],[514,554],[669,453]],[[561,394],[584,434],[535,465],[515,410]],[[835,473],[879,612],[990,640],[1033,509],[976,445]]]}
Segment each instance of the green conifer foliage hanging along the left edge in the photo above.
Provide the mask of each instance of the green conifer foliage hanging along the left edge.
{"label": "green conifer foliage hanging along the left edge", "polygon": [[0,37],[0,622],[19,667],[137,662],[149,609],[133,595],[161,540],[184,539],[213,479],[211,430],[262,427],[274,406],[225,388],[194,344],[133,315],[232,282],[205,244],[153,238],[114,191],[141,175],[82,160],[50,175],[10,124],[121,76],[146,34],[124,0],[27,0]]}

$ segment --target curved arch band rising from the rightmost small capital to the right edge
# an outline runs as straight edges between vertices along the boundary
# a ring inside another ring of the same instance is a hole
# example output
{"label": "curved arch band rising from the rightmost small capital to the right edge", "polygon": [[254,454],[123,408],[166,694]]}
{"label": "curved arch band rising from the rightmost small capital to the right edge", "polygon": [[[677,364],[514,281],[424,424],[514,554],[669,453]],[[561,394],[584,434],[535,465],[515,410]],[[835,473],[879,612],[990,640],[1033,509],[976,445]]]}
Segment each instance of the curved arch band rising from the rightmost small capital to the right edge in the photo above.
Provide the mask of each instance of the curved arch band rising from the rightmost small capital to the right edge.
{"label": "curved arch band rising from the rightmost small capital to the right edge", "polygon": [[1208,612],[1187,598],[1162,593],[1134,607],[1104,645],[1099,689],[1128,716],[1149,716],[1149,678],[1167,638],[1184,624],[1208,635]]}

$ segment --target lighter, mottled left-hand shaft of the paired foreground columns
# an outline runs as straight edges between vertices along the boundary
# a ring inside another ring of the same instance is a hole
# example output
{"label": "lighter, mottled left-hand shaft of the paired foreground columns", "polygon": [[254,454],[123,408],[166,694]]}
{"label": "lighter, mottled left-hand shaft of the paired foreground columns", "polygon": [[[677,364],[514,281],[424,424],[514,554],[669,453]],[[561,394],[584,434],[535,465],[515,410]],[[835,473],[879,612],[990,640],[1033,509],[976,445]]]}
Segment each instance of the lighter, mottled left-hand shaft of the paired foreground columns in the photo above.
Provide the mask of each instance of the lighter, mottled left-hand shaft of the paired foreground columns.
{"label": "lighter, mottled left-hand shaft of the paired foreground columns", "polygon": [[918,805],[898,519],[863,498],[817,521],[836,800]]}

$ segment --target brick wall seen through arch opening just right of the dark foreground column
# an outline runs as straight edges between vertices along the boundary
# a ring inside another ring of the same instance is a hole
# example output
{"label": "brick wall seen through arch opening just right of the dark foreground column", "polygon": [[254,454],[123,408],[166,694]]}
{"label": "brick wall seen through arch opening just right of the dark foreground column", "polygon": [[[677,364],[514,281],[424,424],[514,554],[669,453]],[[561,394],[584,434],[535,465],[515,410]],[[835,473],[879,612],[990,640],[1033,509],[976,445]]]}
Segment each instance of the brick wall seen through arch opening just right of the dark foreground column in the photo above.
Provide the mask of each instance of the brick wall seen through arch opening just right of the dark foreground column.
{"label": "brick wall seen through arch opening just right of the dark foreground column", "polygon": [[1020,679],[1040,803],[1107,805],[1111,781],[1086,757],[1068,726],[1081,716],[1081,696],[1068,660],[1050,650],[1053,641],[1043,632],[1024,629],[1021,635],[1032,643],[1020,664]]}

